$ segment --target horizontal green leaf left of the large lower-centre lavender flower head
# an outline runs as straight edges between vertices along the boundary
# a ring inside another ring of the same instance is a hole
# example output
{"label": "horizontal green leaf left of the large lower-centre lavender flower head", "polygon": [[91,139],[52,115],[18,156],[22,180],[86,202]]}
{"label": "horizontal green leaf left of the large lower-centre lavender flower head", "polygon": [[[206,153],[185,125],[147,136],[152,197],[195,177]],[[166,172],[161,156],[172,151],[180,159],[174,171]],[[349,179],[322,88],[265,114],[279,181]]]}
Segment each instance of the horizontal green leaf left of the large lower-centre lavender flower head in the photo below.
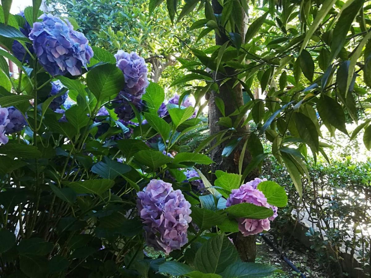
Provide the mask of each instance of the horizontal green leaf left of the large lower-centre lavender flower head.
{"label": "horizontal green leaf left of the large lower-centre lavender flower head", "polygon": [[83,182],[63,182],[63,184],[72,188],[78,194],[91,193],[101,195],[114,186],[115,182],[110,179],[93,179]]}

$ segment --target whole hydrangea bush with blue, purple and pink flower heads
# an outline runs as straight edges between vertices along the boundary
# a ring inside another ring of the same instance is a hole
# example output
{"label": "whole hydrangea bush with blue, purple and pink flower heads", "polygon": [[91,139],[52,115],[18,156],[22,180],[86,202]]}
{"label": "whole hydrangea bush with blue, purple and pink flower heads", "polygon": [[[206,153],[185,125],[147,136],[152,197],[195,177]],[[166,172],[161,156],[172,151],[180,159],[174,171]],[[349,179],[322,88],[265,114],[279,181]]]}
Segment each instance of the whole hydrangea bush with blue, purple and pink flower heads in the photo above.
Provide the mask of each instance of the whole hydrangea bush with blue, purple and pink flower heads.
{"label": "whole hydrangea bush with blue, purple and pink flower heads", "polygon": [[[0,24],[16,45],[0,56],[20,69],[0,87],[0,276],[275,271],[240,262],[225,234],[269,229],[283,188],[223,171],[212,185],[199,170],[213,163],[210,141],[185,148],[206,125],[190,98],[165,101],[143,57],[90,46],[68,20],[33,14],[17,17],[20,30]],[[234,268],[205,257],[209,245]]]}

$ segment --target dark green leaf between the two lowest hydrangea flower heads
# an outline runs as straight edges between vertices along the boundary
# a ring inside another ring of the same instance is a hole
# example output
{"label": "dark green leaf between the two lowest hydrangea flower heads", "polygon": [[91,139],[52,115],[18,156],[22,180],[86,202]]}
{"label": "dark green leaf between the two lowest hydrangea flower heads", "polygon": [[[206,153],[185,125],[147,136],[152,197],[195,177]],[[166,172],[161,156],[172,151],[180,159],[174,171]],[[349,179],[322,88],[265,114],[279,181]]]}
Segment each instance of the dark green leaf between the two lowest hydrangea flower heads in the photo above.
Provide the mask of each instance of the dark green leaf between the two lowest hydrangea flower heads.
{"label": "dark green leaf between the two lowest hydrangea flower heads", "polygon": [[197,206],[192,206],[191,217],[192,221],[196,223],[198,228],[202,231],[219,225],[223,223],[224,220],[220,214],[206,208],[198,208]]}

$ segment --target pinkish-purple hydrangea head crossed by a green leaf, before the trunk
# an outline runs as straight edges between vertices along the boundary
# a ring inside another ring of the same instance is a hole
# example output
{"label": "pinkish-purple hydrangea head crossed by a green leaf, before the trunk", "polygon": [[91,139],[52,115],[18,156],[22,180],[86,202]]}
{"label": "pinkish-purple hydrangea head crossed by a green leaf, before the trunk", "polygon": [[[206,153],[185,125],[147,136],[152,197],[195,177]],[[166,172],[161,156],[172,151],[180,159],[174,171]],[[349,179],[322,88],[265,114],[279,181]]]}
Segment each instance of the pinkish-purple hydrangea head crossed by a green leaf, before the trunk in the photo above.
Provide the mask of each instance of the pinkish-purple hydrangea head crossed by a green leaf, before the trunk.
{"label": "pinkish-purple hydrangea head crossed by a green leaf, before the trunk", "polygon": [[271,208],[274,212],[272,216],[265,219],[238,218],[238,228],[244,236],[259,234],[263,230],[268,231],[270,229],[270,221],[273,221],[277,217],[278,208],[267,203],[267,198],[257,189],[257,185],[266,180],[256,178],[253,181],[247,182],[241,185],[239,189],[233,189],[232,194],[227,199],[227,207],[238,203],[252,203],[257,206]]}

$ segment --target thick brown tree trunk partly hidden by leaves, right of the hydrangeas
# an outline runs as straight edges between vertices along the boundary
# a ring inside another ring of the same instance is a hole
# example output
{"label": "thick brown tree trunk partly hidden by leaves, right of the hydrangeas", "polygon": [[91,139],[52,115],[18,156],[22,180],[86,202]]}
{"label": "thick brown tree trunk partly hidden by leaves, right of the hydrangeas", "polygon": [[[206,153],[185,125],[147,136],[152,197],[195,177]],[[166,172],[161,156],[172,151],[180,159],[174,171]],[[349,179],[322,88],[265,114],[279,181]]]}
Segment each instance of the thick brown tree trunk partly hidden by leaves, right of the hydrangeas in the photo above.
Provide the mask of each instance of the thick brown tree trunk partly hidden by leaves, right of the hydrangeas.
{"label": "thick brown tree trunk partly hidden by leaves, right of the hydrangeas", "polygon": [[[220,6],[219,2],[217,0],[212,0],[212,6],[215,14],[221,14],[222,7]],[[241,13],[243,13],[244,19],[247,19],[246,14],[241,9]],[[243,22],[246,22],[246,20],[243,20]],[[241,30],[241,37],[244,38],[244,34],[246,33],[246,24],[243,23],[243,26],[240,26]],[[229,39],[225,36],[225,34],[221,33],[221,36],[216,36],[216,44],[217,45],[223,45],[225,42],[227,42]],[[236,71],[232,68],[226,67],[227,76],[233,76]],[[217,80],[223,79],[226,76],[218,73],[216,76]],[[215,104],[215,97],[219,97],[223,100],[225,105],[225,113],[226,115],[231,114],[234,112],[237,108],[242,106],[243,103],[243,96],[242,96],[242,86],[239,84],[235,86],[233,89],[231,89],[234,85],[234,82],[236,79],[232,77],[229,81],[224,83],[222,86],[220,86],[219,93],[210,92],[209,96],[209,128],[210,128],[210,135],[213,135],[217,132],[219,132],[221,129],[224,129],[223,127],[219,126],[217,124],[217,121],[220,117],[223,115],[217,108]],[[232,120],[234,120],[233,117],[231,117]],[[242,120],[242,122],[244,119]],[[241,123],[242,123],[241,122]],[[247,140],[248,134],[249,134],[249,126],[245,125],[242,128],[237,129],[237,133],[244,137],[241,142],[244,142]],[[240,153],[243,147],[243,143],[240,143],[236,149],[228,156],[228,157],[222,157],[221,153],[226,146],[228,142],[222,143],[217,148],[214,148],[211,152],[211,159],[215,163],[211,166],[211,172],[214,173],[216,170],[222,170],[226,171],[228,173],[238,173],[238,164],[239,164],[239,157]],[[244,163],[243,168],[249,164],[251,160],[250,153],[246,150],[245,157],[244,157]],[[214,175],[213,175],[214,176]],[[250,175],[246,178],[248,180],[257,177],[257,172],[253,171],[250,173]],[[211,179],[214,179],[215,177],[211,177]],[[234,234],[232,236],[234,245],[237,248],[237,251],[240,254],[240,257],[243,261],[247,262],[254,262],[256,257],[256,236],[246,236],[244,237],[240,232]]]}

